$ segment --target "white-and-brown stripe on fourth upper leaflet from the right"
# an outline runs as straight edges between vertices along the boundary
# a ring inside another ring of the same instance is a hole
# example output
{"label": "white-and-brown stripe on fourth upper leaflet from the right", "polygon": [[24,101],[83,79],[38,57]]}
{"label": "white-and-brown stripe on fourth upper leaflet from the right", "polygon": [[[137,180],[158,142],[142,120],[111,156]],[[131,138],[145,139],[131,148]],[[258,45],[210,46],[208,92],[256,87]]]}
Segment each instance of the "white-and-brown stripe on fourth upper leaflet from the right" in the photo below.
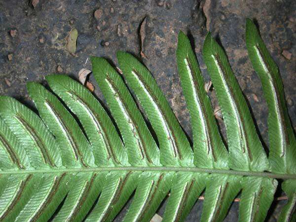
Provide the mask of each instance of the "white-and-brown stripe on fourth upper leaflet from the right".
{"label": "white-and-brown stripe on fourth upper leaflet from the right", "polygon": [[174,139],[173,133],[172,133],[171,129],[169,128],[166,119],[164,118],[164,113],[162,113],[162,111],[159,109],[158,105],[156,104],[155,100],[152,98],[151,94],[148,92],[146,86],[144,85],[143,81],[139,78],[138,74],[136,74],[134,71],[132,71],[131,73],[137,79],[141,88],[143,89],[143,91],[148,96],[149,100],[151,101],[151,104],[154,107],[154,110],[157,112],[158,117],[159,117],[161,124],[163,126],[163,129],[165,131],[165,134],[167,135],[167,139],[169,141],[173,156],[178,157],[180,159],[180,157],[181,157],[180,152],[179,152],[178,147],[176,145],[176,141]]}

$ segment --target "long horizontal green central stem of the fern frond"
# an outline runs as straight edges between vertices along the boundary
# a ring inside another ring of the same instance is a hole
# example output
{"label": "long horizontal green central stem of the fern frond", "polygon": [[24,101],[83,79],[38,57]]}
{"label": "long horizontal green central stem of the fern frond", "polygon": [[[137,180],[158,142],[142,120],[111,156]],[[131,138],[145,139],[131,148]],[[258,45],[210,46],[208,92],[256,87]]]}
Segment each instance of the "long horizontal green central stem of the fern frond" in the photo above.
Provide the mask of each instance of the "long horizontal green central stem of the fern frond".
{"label": "long horizontal green central stem of the fern frond", "polygon": [[223,169],[206,169],[197,167],[93,167],[93,168],[68,168],[68,169],[41,169],[41,170],[14,170],[2,171],[0,175],[7,174],[56,174],[56,173],[78,173],[78,172],[109,172],[109,171],[151,171],[151,172],[191,172],[191,173],[209,173],[209,174],[226,174],[237,176],[251,177],[268,177],[277,179],[295,179],[296,174],[279,174],[269,172],[237,171]]}

